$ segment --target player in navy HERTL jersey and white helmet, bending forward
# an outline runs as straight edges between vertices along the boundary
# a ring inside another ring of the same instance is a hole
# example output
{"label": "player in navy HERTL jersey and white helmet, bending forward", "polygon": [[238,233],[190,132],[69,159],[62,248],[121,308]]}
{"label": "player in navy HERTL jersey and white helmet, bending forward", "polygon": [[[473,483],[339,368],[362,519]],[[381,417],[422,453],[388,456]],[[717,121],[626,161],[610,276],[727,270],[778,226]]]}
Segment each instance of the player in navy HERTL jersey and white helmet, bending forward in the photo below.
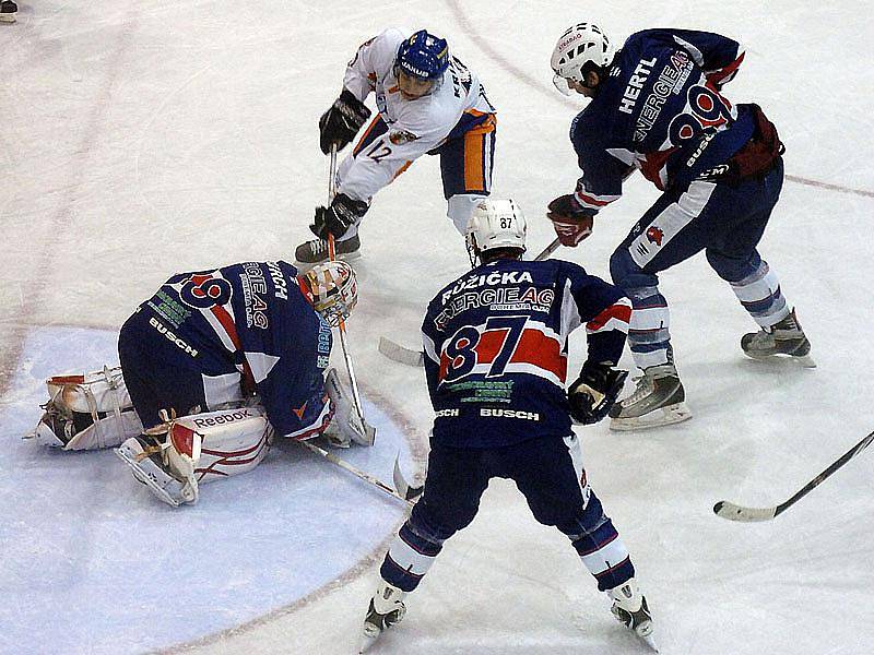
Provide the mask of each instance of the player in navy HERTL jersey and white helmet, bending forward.
{"label": "player in navy HERTL jersey and white helmet, bending forward", "polygon": [[622,195],[636,168],[662,191],[610,262],[634,306],[628,344],[643,371],[611,412],[614,429],[692,416],[658,274],[701,250],[759,325],[742,337],[743,352],[813,365],[795,312],[756,249],[780,195],[783,146],[757,105],[722,95],[743,59],[737,41],[689,29],[639,32],[614,52],[598,26],[580,23],[555,46],[556,87],[591,98],[570,128],[582,177],[548,207],[562,243],[575,247],[591,234],[594,215]]}

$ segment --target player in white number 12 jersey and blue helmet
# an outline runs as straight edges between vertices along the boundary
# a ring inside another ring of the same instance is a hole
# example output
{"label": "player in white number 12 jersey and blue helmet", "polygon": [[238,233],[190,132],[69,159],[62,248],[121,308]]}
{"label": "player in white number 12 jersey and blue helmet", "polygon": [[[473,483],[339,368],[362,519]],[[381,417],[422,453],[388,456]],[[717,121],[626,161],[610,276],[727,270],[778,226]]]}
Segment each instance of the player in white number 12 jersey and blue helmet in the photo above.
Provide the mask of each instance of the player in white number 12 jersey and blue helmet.
{"label": "player in white number 12 jersey and blue helmet", "polygon": [[374,195],[424,154],[440,156],[447,215],[462,236],[473,207],[491,192],[495,109],[446,39],[390,27],[365,41],[346,67],[340,97],[319,120],[323,153],[355,138],[370,118],[364,105],[370,93],[377,116],[340,164],[331,204],[316,209],[310,229],[319,238],[297,248],[300,264],[328,259],[329,234],[338,254],[356,257],[358,225]]}

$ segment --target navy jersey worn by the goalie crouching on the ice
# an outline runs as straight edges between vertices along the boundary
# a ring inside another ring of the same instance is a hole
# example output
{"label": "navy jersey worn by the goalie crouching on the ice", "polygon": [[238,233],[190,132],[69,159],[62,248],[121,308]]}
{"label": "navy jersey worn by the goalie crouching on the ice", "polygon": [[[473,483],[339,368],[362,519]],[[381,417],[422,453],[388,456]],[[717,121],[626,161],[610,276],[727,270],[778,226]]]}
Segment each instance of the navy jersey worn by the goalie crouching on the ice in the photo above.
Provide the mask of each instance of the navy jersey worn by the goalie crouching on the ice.
{"label": "navy jersey worn by the goalie crouching on the ice", "polygon": [[331,329],[296,275],[283,261],[179,273],[139,311],[180,340],[204,386],[228,376],[239,380],[245,394],[258,394],[276,433],[299,439],[331,418],[323,381]]}

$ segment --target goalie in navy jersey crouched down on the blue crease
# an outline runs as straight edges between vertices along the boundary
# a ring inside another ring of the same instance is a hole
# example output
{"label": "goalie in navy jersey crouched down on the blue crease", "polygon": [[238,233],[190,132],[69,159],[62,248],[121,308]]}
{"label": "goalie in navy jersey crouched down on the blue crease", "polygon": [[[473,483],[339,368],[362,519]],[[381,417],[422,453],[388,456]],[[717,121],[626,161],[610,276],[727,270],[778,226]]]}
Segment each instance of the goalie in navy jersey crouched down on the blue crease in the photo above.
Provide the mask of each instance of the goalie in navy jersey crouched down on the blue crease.
{"label": "goalie in navy jersey crouched down on the blue crease", "polygon": [[357,301],[342,261],[307,273],[250,262],[170,277],[118,337],[120,367],[47,380],[32,437],[64,450],[115,448],[178,507],[199,485],[251,471],[274,434],[373,444],[329,369],[331,327]]}

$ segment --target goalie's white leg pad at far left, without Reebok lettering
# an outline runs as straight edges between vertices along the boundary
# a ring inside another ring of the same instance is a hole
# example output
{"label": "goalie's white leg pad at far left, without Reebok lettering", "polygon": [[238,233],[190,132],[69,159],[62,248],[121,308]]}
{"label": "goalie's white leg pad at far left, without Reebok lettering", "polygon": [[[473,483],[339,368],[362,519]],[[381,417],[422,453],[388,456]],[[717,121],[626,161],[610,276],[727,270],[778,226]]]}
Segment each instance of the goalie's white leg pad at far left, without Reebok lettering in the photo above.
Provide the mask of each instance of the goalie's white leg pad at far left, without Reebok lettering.
{"label": "goalie's white leg pad at far left, without Reebok lettering", "polygon": [[46,380],[45,414],[28,436],[63,450],[114,448],[142,432],[121,368]]}

